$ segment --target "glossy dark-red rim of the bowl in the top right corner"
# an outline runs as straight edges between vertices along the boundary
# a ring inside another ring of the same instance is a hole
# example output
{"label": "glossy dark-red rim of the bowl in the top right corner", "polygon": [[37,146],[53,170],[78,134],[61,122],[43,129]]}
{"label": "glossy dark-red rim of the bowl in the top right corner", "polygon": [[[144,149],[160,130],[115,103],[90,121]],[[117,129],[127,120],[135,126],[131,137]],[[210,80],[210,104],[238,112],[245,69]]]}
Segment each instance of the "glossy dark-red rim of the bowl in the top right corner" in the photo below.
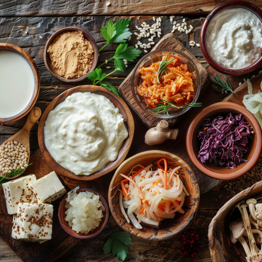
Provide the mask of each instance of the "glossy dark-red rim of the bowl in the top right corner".
{"label": "glossy dark-red rim of the bowl in the top right corner", "polygon": [[259,67],[262,64],[262,53],[261,53],[260,56],[256,59],[256,61],[254,61],[249,66],[246,66],[244,68],[239,68],[239,69],[229,69],[229,68],[226,68],[218,64],[218,62],[216,62],[209,54],[205,38],[206,38],[206,32],[207,32],[207,28],[209,26],[210,21],[219,11],[226,9],[226,8],[230,8],[230,7],[236,7],[236,6],[250,10],[252,13],[257,15],[258,18],[262,22],[262,11],[256,5],[250,2],[242,1],[242,0],[231,0],[225,3],[222,3],[221,5],[216,7],[213,11],[211,11],[209,15],[206,17],[205,21],[203,22],[201,31],[200,31],[199,42],[200,42],[200,48],[201,48],[203,57],[209,63],[210,66],[212,66],[215,70],[217,70],[218,72],[222,74],[229,74],[229,75],[247,74],[255,70],[257,67]]}

